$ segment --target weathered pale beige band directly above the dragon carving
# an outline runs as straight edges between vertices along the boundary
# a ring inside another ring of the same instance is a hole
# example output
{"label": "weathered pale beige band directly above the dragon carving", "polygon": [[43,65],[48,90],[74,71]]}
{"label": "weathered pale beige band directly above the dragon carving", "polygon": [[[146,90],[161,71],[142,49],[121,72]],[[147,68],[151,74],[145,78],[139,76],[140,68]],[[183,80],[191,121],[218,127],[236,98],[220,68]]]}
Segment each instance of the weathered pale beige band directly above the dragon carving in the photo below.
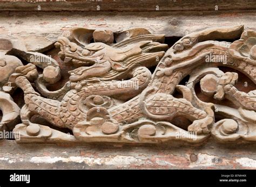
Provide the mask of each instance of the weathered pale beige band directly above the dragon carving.
{"label": "weathered pale beige band directly above the dragon carving", "polygon": [[[0,33],[6,38],[12,36],[23,39],[28,51],[43,52],[43,48],[52,46],[64,30],[72,27],[111,31],[140,27],[154,34],[165,34],[166,37],[183,37],[214,26],[243,24],[245,28],[256,28],[255,16],[253,10],[246,11],[245,15],[239,11],[225,12],[220,9],[211,13],[194,12],[193,15],[186,11],[182,14],[153,11],[146,17],[144,12],[0,12]],[[178,25],[171,24],[173,19],[177,20]]]}

